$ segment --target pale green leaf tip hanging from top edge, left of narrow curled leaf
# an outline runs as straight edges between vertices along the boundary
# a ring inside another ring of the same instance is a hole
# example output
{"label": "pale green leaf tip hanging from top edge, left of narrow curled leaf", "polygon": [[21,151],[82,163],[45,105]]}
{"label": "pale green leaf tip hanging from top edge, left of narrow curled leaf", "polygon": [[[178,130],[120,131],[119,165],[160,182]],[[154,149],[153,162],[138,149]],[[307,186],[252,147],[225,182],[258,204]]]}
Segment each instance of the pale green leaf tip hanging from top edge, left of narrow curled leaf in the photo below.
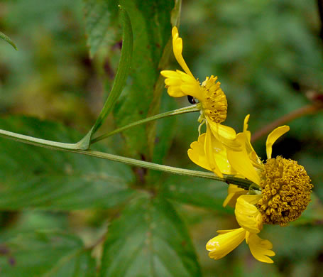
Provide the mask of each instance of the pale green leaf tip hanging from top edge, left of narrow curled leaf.
{"label": "pale green leaf tip hanging from top edge, left of narrow curled leaf", "polygon": [[93,58],[100,47],[114,43],[118,1],[83,0],[83,12],[89,55]]}

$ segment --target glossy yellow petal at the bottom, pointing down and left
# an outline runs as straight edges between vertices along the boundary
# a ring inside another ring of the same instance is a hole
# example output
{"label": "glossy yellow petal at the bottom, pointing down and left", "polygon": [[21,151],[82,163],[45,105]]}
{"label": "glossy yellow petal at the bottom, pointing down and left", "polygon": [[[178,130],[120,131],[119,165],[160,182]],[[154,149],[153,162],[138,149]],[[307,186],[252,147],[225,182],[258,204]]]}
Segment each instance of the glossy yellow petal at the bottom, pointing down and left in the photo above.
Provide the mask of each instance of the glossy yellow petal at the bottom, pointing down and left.
{"label": "glossy yellow petal at the bottom, pointing down and left", "polygon": [[[221,231],[219,231],[221,232]],[[224,231],[207,242],[209,257],[218,260],[234,250],[243,239],[246,238],[246,230],[243,228]]]}

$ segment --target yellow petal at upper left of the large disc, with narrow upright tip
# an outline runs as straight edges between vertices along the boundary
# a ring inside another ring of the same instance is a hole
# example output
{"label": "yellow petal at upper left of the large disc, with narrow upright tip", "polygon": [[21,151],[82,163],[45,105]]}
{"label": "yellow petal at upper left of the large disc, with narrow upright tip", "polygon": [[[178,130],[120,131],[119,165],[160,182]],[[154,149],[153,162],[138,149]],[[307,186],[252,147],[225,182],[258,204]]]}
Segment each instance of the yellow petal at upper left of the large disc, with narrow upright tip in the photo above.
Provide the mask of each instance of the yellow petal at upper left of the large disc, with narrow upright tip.
{"label": "yellow petal at upper left of the large disc, with narrow upright tip", "polygon": [[246,136],[243,133],[236,135],[236,141],[241,146],[241,151],[233,151],[227,148],[227,156],[232,168],[243,177],[251,180],[253,183],[260,184],[261,179],[249,159],[246,151]]}

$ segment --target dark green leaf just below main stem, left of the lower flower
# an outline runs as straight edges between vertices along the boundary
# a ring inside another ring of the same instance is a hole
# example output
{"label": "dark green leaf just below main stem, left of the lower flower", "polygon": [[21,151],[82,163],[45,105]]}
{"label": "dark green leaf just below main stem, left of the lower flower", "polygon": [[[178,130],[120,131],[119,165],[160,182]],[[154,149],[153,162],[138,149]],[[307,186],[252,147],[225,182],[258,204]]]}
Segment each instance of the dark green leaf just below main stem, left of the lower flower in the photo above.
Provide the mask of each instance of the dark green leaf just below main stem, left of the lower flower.
{"label": "dark green leaf just below main stem, left of the lower flower", "polygon": [[222,207],[227,195],[228,185],[226,183],[170,175],[169,178],[163,181],[162,186],[161,194],[169,199],[197,207],[231,212],[228,207]]}

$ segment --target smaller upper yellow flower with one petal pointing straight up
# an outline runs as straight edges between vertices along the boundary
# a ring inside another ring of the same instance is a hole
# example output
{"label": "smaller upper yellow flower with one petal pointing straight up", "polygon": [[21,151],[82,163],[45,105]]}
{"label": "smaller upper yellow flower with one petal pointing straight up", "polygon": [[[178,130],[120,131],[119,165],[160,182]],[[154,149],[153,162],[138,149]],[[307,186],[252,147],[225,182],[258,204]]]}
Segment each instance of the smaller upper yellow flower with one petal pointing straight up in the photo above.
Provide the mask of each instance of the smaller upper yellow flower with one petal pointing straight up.
{"label": "smaller upper yellow flower with one petal pointing straight up", "polygon": [[209,131],[212,131],[213,136],[219,141],[231,148],[237,148],[236,131],[221,125],[221,122],[226,119],[227,102],[220,82],[217,82],[217,77],[213,75],[207,77],[202,84],[195,79],[182,57],[182,38],[179,37],[176,27],[173,28],[172,35],[175,58],[185,72],[180,70],[160,72],[166,78],[165,87],[168,88],[168,94],[171,97],[191,96],[197,99],[199,101],[198,107],[201,110],[199,122],[201,124],[206,122],[209,125]]}

